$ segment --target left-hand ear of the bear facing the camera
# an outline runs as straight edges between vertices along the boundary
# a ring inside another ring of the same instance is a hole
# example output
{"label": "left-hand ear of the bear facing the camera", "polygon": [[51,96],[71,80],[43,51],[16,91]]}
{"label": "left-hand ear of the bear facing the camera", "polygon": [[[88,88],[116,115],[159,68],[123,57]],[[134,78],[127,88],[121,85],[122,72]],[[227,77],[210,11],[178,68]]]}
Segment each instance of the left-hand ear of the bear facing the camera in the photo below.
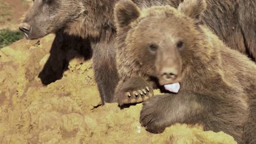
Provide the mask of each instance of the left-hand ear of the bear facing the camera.
{"label": "left-hand ear of the bear facing the camera", "polygon": [[119,27],[128,26],[132,21],[135,21],[141,10],[131,0],[120,0],[115,4],[114,18]]}

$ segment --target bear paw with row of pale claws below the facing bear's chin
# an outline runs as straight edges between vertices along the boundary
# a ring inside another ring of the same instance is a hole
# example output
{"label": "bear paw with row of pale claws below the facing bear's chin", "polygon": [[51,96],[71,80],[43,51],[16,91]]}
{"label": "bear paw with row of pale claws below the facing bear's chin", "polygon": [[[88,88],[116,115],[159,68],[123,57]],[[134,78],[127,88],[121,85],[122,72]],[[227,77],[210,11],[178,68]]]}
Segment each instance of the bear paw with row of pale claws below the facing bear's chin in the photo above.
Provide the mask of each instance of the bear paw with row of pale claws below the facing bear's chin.
{"label": "bear paw with row of pale claws below the facing bear's chin", "polygon": [[120,83],[115,91],[115,99],[119,105],[141,103],[153,95],[153,88],[141,77],[133,77]]}

